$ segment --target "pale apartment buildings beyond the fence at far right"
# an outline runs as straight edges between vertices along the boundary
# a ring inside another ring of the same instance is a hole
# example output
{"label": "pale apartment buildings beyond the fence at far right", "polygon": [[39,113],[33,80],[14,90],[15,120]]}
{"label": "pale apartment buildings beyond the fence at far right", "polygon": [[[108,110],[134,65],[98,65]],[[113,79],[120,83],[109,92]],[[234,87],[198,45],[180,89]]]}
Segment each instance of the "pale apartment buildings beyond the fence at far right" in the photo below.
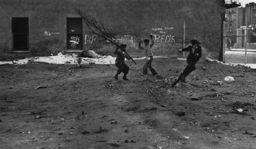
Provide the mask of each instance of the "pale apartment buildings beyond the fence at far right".
{"label": "pale apartment buildings beyond the fence at far right", "polygon": [[227,49],[245,48],[245,43],[247,49],[256,49],[255,3],[246,4],[246,7],[226,9],[224,38]]}

